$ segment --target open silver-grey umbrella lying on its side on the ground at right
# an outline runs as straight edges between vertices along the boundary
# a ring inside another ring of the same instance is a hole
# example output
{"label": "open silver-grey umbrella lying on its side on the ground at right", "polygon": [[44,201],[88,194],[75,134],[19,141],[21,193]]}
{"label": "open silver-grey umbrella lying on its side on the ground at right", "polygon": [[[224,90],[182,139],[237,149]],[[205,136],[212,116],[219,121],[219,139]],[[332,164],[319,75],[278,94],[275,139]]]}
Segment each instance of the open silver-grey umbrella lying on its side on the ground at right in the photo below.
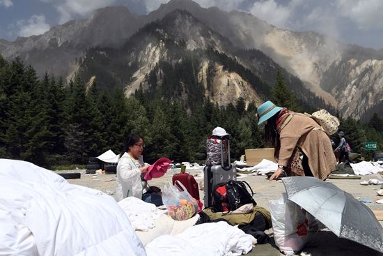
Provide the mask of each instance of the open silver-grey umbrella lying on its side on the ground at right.
{"label": "open silver-grey umbrella lying on its side on the ground at right", "polygon": [[332,183],[308,176],[282,178],[288,199],[338,237],[383,253],[383,228],[366,205]]}

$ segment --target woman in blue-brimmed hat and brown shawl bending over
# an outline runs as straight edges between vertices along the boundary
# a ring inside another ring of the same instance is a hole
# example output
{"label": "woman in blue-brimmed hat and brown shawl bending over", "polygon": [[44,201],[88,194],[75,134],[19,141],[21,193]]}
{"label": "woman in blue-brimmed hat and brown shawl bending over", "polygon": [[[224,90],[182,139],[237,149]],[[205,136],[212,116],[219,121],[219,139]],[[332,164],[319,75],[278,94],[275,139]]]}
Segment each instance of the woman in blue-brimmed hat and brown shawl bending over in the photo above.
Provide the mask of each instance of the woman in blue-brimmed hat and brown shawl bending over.
{"label": "woman in blue-brimmed hat and brown shawl bending over", "polygon": [[[321,126],[305,114],[266,101],[258,107],[258,125],[265,123],[265,142],[274,146],[278,169],[288,176],[314,176],[325,180],[335,170],[336,158],[329,137]],[[303,156],[302,158],[300,156]]]}

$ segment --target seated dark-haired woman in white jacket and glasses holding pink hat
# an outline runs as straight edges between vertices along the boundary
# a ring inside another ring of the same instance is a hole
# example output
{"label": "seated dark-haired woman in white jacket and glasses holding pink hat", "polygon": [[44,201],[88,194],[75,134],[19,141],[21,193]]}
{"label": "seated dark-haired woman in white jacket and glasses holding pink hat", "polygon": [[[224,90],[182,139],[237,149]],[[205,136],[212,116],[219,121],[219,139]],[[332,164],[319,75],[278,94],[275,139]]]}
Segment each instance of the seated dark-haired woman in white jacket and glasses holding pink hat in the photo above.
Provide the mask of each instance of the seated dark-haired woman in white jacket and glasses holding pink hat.
{"label": "seated dark-haired woman in white jacket and glasses holding pink hat", "polygon": [[148,167],[143,163],[141,153],[145,144],[141,136],[130,134],[125,140],[125,148],[120,153],[117,164],[116,201],[126,197],[136,197],[156,206],[162,205],[162,196],[153,193],[144,179]]}

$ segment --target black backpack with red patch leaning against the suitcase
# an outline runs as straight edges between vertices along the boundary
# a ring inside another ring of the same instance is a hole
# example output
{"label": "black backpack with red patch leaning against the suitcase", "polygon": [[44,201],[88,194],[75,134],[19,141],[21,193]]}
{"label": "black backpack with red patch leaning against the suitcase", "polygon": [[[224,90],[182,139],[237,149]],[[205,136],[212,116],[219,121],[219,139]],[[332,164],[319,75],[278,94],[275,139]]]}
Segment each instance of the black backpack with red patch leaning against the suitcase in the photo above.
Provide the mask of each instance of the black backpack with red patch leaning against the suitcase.
{"label": "black backpack with red patch leaning against the suitcase", "polygon": [[[251,195],[246,185],[250,188]],[[240,208],[244,204],[257,205],[253,199],[253,190],[246,181],[230,180],[226,183],[219,183],[214,187],[212,193],[212,211],[230,212]]]}

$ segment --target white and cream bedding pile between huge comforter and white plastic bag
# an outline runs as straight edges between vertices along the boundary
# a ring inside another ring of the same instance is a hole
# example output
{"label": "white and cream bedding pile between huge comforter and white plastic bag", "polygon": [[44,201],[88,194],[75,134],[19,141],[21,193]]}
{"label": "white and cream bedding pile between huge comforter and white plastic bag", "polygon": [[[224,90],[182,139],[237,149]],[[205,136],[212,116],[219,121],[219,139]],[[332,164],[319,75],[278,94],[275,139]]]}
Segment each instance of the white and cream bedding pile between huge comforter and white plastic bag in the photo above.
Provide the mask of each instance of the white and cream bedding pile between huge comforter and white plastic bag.
{"label": "white and cream bedding pile between huge comforter and white plastic bag", "polygon": [[191,256],[241,255],[252,248],[251,236],[226,222],[194,226],[198,214],[189,220],[173,220],[154,204],[135,197],[127,197],[118,204],[129,217],[148,256],[175,256],[181,255],[181,251],[182,255]]}

